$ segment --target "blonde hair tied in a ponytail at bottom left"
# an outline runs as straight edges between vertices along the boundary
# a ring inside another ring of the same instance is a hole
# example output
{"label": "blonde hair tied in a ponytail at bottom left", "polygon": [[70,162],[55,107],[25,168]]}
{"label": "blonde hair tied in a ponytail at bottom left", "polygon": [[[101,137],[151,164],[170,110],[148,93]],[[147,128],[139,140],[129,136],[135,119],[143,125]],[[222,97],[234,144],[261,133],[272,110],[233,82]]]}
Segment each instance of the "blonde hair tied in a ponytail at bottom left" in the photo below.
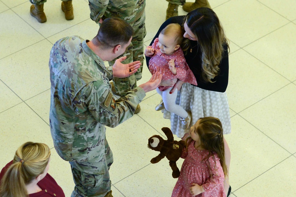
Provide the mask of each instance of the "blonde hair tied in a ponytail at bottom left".
{"label": "blonde hair tied in a ponytail at bottom left", "polygon": [[13,164],[5,172],[0,187],[1,197],[26,197],[26,185],[41,175],[50,157],[46,144],[26,142],[15,152]]}

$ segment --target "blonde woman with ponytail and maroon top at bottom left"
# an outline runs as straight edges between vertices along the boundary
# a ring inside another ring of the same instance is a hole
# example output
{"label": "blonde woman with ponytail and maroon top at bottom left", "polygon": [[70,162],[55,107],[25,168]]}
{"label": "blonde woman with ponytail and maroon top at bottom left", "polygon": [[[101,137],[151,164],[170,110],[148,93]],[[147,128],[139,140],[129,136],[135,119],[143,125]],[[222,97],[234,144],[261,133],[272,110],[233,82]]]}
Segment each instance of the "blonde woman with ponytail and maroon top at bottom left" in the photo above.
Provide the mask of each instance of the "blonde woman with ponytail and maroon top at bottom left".
{"label": "blonde woman with ponytail and maroon top at bottom left", "polygon": [[0,173],[0,197],[65,197],[62,188],[47,174],[50,149],[46,144],[26,142]]}

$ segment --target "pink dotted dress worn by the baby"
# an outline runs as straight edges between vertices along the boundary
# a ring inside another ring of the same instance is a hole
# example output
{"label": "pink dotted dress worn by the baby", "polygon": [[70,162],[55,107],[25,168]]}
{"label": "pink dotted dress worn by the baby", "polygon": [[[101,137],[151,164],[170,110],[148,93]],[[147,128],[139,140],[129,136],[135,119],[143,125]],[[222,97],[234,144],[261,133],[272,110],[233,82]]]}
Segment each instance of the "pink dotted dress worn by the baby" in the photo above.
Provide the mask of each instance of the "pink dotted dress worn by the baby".
{"label": "pink dotted dress worn by the baby", "polygon": [[[155,49],[155,52],[152,56],[150,56],[151,59],[149,61],[149,70],[151,74],[154,74],[155,72],[160,71],[160,73],[163,75],[162,80],[170,80],[170,79],[178,78],[185,83],[197,85],[194,74],[189,69],[189,66],[186,63],[186,60],[184,58],[184,53],[181,48],[178,48],[171,55],[161,53],[160,48],[158,46],[158,38],[154,40],[152,46],[150,47]],[[175,61],[175,67],[177,70],[176,75],[174,75],[168,67],[168,62],[171,59]],[[170,87],[171,86],[159,86],[158,88],[160,89],[160,91],[164,91]]]}

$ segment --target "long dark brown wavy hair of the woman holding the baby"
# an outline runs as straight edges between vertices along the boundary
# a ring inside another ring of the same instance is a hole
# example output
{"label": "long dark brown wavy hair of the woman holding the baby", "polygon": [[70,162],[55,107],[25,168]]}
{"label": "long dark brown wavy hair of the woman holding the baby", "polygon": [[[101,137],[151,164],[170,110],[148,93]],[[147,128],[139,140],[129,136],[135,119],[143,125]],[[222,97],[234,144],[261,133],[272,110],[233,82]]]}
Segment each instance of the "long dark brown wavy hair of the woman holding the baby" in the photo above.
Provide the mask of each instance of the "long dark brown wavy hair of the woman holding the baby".
{"label": "long dark brown wavy hair of the woman holding the baby", "polygon": [[[229,50],[223,27],[216,13],[206,7],[189,12],[184,19],[185,22],[198,39],[197,42],[202,52],[202,79],[205,82],[213,83],[212,79],[220,71],[219,64],[224,52],[223,45],[227,45],[227,50]],[[188,49],[189,45],[189,40],[184,39],[183,50]]]}

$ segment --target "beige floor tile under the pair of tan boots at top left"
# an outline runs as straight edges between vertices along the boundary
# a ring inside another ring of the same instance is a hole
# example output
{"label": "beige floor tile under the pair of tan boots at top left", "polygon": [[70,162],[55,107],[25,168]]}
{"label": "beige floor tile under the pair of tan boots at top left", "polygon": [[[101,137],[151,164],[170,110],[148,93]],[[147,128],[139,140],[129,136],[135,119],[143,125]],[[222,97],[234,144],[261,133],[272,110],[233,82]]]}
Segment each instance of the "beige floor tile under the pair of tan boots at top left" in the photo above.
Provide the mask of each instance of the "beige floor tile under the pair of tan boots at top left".
{"label": "beige floor tile under the pair of tan boots at top left", "polygon": [[47,38],[86,19],[89,19],[90,11],[89,5],[86,1],[73,1],[74,19],[70,21],[65,19],[65,14],[61,9],[61,2],[62,1],[47,1],[44,4],[44,13],[47,18],[45,23],[39,23],[30,15],[29,11],[31,3],[29,1],[12,8],[12,10],[24,19],[30,26],[36,29],[41,35]]}

